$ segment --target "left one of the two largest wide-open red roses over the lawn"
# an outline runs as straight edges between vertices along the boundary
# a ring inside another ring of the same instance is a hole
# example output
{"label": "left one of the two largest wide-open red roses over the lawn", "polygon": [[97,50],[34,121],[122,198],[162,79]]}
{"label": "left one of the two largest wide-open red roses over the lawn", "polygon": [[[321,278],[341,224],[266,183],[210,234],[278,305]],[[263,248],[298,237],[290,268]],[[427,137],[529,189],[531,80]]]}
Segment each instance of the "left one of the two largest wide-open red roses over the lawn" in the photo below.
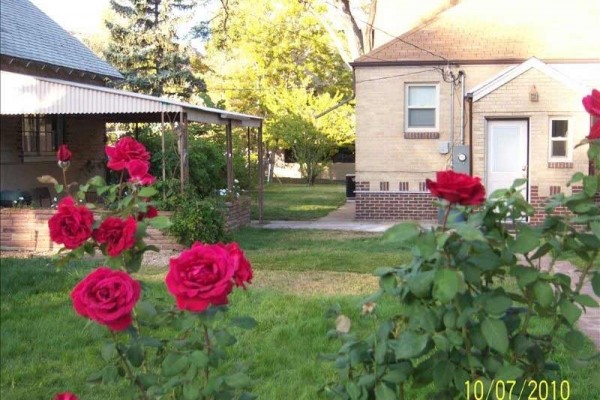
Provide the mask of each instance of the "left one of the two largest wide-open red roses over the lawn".
{"label": "left one of the two largest wide-open red roses over the lawn", "polygon": [[122,331],[131,325],[140,291],[140,284],[126,272],[99,267],[75,286],[71,299],[77,314]]}

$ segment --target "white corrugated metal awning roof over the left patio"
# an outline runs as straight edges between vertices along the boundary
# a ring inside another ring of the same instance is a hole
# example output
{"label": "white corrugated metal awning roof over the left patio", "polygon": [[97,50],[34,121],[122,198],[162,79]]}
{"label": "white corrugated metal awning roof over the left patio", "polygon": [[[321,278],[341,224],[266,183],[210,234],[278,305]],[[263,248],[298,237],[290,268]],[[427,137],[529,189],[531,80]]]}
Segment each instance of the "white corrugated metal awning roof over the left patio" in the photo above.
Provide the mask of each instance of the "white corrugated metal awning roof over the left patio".
{"label": "white corrugated metal awning roof over the left patio", "polygon": [[262,118],[104,86],[0,71],[0,114],[186,113],[188,121],[258,127]]}

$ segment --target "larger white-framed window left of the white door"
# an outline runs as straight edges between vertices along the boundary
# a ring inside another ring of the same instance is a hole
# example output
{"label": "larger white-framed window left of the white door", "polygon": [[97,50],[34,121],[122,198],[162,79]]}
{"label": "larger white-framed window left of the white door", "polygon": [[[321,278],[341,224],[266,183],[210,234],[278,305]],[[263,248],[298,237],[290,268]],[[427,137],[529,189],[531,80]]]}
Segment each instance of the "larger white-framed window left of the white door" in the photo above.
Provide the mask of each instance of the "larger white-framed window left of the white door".
{"label": "larger white-framed window left of the white door", "polygon": [[406,84],[405,128],[414,131],[439,130],[439,85],[436,83]]}

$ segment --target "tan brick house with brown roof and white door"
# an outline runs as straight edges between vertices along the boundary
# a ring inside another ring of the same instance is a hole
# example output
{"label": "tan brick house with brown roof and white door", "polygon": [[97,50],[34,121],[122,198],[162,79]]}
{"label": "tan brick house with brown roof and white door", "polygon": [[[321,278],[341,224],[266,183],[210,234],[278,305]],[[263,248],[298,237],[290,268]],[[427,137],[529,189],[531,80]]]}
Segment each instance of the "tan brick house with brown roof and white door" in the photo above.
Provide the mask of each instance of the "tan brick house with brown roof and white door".
{"label": "tan brick house with brown roof and white door", "polygon": [[425,179],[448,168],[489,193],[527,178],[538,205],[572,190],[598,21],[595,1],[463,0],[358,58],[356,218],[436,219]]}

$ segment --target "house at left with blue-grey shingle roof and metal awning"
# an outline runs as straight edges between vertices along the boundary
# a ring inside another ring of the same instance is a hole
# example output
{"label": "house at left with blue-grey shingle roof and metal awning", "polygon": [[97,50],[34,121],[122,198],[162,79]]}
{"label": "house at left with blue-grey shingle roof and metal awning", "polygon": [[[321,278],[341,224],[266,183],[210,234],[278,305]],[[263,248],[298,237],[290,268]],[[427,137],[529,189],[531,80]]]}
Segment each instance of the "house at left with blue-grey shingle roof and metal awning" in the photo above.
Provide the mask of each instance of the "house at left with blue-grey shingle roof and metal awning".
{"label": "house at left with blue-grey shingle roof and metal awning", "polygon": [[[56,150],[76,155],[70,179],[105,168],[106,124],[177,121],[258,128],[262,118],[107,87],[122,75],[28,0],[1,0],[0,189],[31,191],[56,167]],[[187,171],[186,140],[181,170]],[[182,181],[186,176],[182,175]],[[231,177],[233,182],[233,177]]]}

